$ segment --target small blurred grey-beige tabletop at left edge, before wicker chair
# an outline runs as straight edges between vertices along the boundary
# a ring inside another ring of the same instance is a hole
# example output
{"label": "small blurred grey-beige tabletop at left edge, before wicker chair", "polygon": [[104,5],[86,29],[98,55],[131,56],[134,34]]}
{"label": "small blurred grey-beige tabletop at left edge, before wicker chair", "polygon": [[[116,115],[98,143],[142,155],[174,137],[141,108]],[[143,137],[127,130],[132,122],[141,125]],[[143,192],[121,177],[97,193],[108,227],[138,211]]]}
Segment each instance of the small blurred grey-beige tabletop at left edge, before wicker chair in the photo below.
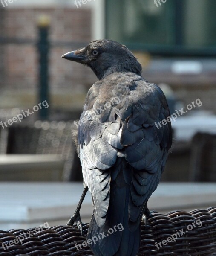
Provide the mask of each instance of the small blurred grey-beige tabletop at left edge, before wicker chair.
{"label": "small blurred grey-beige tabletop at left edge, before wicker chair", "polygon": [[60,181],[65,161],[60,155],[8,154],[0,156],[1,181]]}

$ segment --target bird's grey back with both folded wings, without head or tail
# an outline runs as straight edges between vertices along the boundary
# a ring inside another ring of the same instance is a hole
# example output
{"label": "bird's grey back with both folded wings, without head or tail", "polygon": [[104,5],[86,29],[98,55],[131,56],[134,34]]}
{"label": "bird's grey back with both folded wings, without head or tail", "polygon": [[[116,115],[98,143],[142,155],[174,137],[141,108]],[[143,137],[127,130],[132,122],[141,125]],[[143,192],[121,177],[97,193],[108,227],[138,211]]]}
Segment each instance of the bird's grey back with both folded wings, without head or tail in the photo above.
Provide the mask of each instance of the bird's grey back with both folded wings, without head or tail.
{"label": "bird's grey back with both folded wings, without head or tail", "polygon": [[[172,141],[170,123],[157,129],[155,122],[169,115],[162,91],[140,76],[107,76],[89,90],[79,123],[78,143],[84,186],[92,193],[99,226],[105,222],[110,170],[117,157],[124,157],[133,173],[131,221],[141,214],[144,202],[159,183]],[[124,175],[127,180],[127,174]]]}

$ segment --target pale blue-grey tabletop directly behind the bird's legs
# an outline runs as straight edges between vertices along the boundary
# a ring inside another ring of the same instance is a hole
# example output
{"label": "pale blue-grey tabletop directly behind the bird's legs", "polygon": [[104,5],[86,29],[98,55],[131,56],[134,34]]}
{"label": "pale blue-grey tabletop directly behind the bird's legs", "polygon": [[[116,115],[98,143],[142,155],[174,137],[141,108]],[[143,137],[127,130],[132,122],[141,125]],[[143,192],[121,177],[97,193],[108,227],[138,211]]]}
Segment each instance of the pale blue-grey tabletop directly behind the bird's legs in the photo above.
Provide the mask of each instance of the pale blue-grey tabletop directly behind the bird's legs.
{"label": "pale blue-grey tabletop directly behind the bird's legs", "polygon": [[[45,222],[66,224],[83,191],[82,183],[1,183],[0,229],[29,228]],[[216,183],[160,183],[148,207],[160,213],[190,211],[216,205]],[[81,218],[90,221],[91,195],[81,208]]]}

